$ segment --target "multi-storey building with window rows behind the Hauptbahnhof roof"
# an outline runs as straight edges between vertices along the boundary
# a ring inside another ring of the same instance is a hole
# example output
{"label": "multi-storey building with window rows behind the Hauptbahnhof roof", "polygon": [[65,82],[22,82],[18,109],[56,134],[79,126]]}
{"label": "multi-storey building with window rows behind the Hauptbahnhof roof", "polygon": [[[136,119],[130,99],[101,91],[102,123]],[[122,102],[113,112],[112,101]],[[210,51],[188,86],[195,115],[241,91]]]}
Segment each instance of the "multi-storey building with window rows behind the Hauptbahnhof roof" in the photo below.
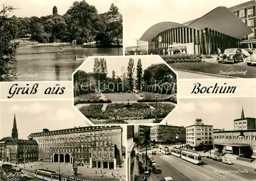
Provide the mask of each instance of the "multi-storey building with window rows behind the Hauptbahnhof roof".
{"label": "multi-storey building with window rows behind the Hauptbahnhof roof", "polygon": [[248,1],[229,9],[247,25],[252,32],[240,41],[241,48],[256,48],[256,2]]}

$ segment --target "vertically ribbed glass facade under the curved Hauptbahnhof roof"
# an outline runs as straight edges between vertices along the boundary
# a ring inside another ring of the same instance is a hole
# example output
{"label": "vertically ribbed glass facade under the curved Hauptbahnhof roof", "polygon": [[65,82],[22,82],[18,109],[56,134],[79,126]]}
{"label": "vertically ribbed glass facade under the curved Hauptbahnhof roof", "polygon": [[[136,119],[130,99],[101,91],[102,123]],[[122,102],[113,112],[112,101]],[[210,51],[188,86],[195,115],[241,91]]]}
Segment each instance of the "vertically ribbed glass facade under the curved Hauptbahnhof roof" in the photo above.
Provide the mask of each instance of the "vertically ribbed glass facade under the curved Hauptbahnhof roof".
{"label": "vertically ribbed glass facade under the curved Hauptbahnhof roof", "polygon": [[[167,54],[173,44],[194,44],[194,54],[217,54],[219,48],[224,52],[227,48],[239,48],[239,39],[205,28],[195,30],[187,27],[167,29],[148,42],[148,54]],[[164,49],[164,51],[163,51]]]}

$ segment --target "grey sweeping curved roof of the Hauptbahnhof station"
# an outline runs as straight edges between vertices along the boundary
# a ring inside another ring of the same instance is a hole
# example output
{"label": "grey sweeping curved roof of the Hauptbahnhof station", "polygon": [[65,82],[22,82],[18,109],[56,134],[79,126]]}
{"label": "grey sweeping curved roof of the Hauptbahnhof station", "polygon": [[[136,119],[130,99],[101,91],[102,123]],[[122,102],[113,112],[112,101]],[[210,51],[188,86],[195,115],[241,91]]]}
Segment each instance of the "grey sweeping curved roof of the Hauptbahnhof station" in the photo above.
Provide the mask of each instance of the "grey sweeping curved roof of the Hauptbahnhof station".
{"label": "grey sweeping curved roof of the Hauptbahnhof station", "polygon": [[237,15],[227,7],[220,6],[200,18],[185,22],[184,24],[178,24],[176,22],[160,22],[147,29],[140,40],[151,41],[156,35],[165,30],[182,27],[195,30],[209,28],[237,39],[242,39],[244,36],[253,33]]}

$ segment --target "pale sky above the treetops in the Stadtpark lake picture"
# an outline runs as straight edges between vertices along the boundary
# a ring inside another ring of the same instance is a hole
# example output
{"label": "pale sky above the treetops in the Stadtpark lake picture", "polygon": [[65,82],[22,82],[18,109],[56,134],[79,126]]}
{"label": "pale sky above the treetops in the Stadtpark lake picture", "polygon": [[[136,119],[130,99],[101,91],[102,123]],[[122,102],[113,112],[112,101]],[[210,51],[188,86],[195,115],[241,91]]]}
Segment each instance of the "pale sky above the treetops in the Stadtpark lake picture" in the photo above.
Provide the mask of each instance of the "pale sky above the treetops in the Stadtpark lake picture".
{"label": "pale sky above the treetops in the Stadtpark lake picture", "polygon": [[[13,13],[17,17],[41,17],[50,15],[54,6],[58,8],[58,14],[63,15],[72,6],[73,2],[75,0],[0,0],[1,5],[11,5],[14,8],[18,8]],[[123,14],[122,0],[86,0],[86,2],[95,6],[98,13],[108,11],[110,5],[114,3],[119,8],[119,12]]]}

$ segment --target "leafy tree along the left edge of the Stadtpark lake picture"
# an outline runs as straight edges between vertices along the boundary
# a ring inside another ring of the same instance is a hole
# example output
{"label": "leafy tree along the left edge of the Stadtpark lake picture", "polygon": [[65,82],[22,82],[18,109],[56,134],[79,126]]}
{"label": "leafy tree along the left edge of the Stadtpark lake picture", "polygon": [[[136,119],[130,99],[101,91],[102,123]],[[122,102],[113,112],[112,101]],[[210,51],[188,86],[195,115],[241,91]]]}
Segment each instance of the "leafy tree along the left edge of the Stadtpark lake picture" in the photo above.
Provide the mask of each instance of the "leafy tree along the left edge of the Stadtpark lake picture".
{"label": "leafy tree along the left edge of the Stadtpark lake picture", "polygon": [[18,42],[15,39],[18,37],[18,27],[16,17],[8,17],[14,10],[12,6],[3,6],[0,11],[0,81],[16,79],[12,65],[16,62]]}

